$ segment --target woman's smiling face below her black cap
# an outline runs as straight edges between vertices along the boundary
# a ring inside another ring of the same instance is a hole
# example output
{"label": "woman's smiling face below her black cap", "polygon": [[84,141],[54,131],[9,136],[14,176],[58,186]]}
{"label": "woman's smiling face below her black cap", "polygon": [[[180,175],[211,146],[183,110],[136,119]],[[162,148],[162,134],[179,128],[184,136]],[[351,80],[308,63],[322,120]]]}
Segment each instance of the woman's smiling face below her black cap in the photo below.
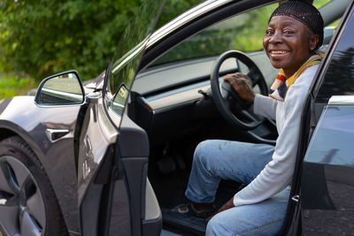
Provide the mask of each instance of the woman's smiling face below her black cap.
{"label": "woman's smiling face below her black cap", "polygon": [[273,17],[266,28],[263,47],[271,64],[289,78],[313,55],[319,38],[303,23],[287,16]]}

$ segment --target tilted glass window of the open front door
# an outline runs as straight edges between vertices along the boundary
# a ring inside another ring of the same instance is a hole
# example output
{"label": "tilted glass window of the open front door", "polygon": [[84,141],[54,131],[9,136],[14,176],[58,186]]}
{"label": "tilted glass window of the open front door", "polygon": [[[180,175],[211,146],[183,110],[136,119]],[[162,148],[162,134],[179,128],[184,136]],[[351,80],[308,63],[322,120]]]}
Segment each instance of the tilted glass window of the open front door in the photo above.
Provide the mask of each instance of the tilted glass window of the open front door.
{"label": "tilted glass window of the open front door", "polygon": [[109,76],[104,86],[104,101],[106,110],[116,126],[119,126],[128,90],[164,2],[164,0],[143,1],[141,8],[135,12],[135,17],[120,37],[112,65],[107,68]]}

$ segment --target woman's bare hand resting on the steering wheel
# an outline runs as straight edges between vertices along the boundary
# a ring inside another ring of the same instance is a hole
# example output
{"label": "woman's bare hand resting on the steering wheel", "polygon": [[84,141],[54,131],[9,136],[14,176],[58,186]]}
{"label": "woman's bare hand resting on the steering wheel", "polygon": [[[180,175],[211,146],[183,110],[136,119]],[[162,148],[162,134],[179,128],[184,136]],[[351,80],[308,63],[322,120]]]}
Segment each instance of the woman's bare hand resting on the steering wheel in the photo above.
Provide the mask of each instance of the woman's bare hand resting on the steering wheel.
{"label": "woman's bare hand resting on the steering wheel", "polygon": [[240,98],[247,102],[254,103],[255,94],[252,91],[250,79],[247,78],[247,75],[241,72],[235,72],[225,75],[223,79],[230,83]]}

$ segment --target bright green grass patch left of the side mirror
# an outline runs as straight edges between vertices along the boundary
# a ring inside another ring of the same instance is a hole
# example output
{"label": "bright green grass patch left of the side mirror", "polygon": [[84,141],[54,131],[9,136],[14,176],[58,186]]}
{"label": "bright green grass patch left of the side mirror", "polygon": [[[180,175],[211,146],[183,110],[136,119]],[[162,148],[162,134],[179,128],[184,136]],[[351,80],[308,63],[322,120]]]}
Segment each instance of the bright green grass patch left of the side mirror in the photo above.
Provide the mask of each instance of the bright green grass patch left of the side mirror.
{"label": "bright green grass patch left of the side mirror", "polygon": [[0,100],[14,95],[21,95],[36,86],[37,83],[33,79],[0,73]]}

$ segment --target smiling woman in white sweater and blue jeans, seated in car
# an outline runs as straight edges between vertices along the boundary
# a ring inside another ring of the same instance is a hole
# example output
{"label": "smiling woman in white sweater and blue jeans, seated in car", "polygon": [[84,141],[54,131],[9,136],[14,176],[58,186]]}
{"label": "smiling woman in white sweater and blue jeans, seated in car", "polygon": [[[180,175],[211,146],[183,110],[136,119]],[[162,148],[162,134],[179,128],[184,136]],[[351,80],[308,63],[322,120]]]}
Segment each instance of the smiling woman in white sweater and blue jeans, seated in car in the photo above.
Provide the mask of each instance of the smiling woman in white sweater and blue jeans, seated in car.
{"label": "smiling woman in white sweater and blue jeans, seated in car", "polygon": [[[312,4],[280,4],[263,31],[266,56],[273,67],[281,69],[275,91],[270,91],[270,96],[255,95],[247,82],[251,72],[248,76],[233,72],[223,77],[242,99],[253,103],[255,114],[276,120],[279,137],[275,147],[225,140],[198,144],[185,192],[189,203],[173,211],[212,217],[206,235],[273,235],[280,231],[296,162],[301,112],[321,59],[316,49],[323,42],[323,26],[322,16]],[[216,210],[213,204],[221,179],[247,186]]]}

